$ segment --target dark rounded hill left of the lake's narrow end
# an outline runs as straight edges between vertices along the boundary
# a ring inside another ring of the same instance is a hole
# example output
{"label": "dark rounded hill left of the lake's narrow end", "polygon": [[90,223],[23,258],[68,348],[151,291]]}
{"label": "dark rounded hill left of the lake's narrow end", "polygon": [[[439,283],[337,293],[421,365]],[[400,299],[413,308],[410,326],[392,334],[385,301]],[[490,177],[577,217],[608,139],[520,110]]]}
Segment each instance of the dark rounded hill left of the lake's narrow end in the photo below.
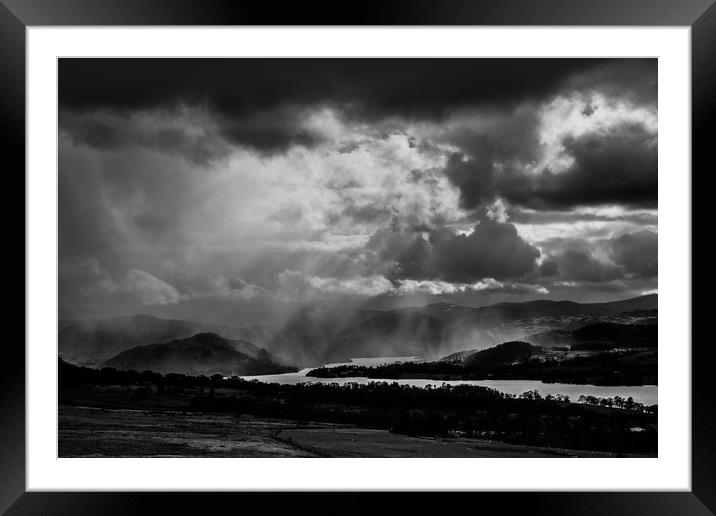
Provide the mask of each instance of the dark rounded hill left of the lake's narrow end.
{"label": "dark rounded hill left of the lake's narrow end", "polygon": [[255,375],[295,371],[278,364],[270,353],[243,341],[215,333],[198,333],[186,339],[137,346],[105,361],[115,369],[183,373],[188,375]]}

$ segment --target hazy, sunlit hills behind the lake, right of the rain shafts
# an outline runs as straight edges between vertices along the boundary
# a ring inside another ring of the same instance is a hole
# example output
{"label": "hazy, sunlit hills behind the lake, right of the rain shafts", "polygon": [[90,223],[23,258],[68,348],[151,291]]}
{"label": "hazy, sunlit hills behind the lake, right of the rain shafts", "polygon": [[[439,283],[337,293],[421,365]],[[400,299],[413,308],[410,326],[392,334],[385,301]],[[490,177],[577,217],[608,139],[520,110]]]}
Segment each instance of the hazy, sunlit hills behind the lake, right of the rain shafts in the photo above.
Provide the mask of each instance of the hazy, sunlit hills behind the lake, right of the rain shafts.
{"label": "hazy, sunlit hills behind the lake, right of the rain shafts", "polygon": [[571,331],[590,323],[655,321],[657,305],[658,297],[649,295],[587,304],[540,300],[479,308],[437,303],[350,313],[306,309],[261,344],[304,367],[371,356],[418,355],[431,360],[460,350],[526,340],[541,332]]}

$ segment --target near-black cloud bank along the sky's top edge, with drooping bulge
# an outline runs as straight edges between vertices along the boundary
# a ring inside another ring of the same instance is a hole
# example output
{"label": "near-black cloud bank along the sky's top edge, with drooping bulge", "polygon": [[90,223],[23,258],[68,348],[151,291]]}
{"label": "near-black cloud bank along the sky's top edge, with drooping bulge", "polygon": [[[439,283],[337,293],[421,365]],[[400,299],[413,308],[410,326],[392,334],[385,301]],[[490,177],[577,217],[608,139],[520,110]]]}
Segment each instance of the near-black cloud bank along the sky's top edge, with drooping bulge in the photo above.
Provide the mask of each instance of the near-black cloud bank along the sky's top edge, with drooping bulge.
{"label": "near-black cloud bank along the sky's top edge, with drooping bulge", "polygon": [[[655,60],[628,61],[649,72],[655,69]],[[469,106],[509,108],[542,99],[560,88],[579,85],[580,77],[594,75],[599,83],[610,84],[607,79],[614,63],[609,59],[65,58],[59,65],[59,103],[61,110],[70,112],[199,106],[214,116],[229,142],[272,152],[320,141],[297,123],[296,114],[305,106],[340,106],[348,116],[362,120],[434,120]],[[620,66],[628,68],[629,63]],[[630,90],[630,85],[623,84],[622,89]],[[123,139],[101,124],[79,132],[89,144],[106,146]],[[170,140],[177,137],[182,136],[168,135]]]}

